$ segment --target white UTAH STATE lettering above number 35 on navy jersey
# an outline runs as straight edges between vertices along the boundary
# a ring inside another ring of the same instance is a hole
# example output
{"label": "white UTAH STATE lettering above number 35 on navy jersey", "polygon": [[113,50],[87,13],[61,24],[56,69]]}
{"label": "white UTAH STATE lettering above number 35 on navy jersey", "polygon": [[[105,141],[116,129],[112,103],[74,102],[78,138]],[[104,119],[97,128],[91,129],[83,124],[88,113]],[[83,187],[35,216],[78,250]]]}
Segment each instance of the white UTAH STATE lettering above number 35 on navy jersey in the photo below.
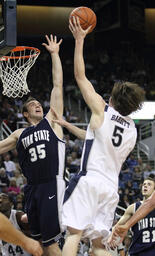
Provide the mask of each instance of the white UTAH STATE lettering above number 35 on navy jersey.
{"label": "white UTAH STATE lettering above number 35 on navy jersey", "polygon": [[28,135],[27,137],[22,139],[22,143],[24,148],[26,149],[27,147],[29,147],[31,144],[33,144],[34,142],[37,142],[39,140],[46,140],[49,141],[49,131],[48,130],[40,130],[40,131],[36,131],[30,135]]}

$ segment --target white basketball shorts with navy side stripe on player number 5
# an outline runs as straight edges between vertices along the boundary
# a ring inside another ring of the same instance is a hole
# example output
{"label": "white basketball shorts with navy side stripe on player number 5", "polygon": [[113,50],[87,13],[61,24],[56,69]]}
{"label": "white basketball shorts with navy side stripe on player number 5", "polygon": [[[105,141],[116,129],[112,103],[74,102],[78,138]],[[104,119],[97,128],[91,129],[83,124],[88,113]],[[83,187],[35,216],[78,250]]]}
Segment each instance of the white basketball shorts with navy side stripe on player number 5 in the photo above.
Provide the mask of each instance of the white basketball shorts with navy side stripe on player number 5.
{"label": "white basketball shorts with navy side stripe on player number 5", "polygon": [[110,235],[114,212],[118,204],[117,189],[101,176],[75,175],[65,194],[63,228],[84,230],[84,237],[95,239]]}

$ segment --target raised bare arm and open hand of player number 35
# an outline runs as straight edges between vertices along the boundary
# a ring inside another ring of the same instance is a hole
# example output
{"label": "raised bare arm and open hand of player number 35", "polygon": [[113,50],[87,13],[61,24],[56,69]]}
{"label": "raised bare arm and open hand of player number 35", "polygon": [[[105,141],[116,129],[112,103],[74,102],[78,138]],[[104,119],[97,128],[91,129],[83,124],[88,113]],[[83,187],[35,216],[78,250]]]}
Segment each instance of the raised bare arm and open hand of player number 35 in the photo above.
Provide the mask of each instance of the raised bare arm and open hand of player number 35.
{"label": "raised bare arm and open hand of player number 35", "polygon": [[[49,51],[52,59],[52,77],[53,77],[53,89],[51,91],[50,107],[53,107],[58,115],[63,115],[63,71],[61,60],[59,57],[59,48],[62,39],[57,42],[57,37],[50,35],[50,38],[46,35],[47,44],[43,43],[46,49]],[[51,111],[48,112],[47,118],[51,119]]]}

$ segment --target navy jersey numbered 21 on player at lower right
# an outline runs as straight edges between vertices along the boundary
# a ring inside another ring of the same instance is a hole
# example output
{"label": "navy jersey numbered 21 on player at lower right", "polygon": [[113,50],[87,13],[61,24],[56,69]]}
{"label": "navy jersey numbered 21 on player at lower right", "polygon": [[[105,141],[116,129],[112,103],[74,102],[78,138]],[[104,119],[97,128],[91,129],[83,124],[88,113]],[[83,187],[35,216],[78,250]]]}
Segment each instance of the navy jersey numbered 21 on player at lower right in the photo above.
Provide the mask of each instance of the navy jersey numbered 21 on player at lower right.
{"label": "navy jersey numbered 21 on player at lower right", "polygon": [[[141,202],[137,202],[135,204],[135,210],[137,210],[140,205]],[[131,230],[133,236],[129,248],[130,254],[153,250],[154,253],[151,255],[155,255],[155,210],[150,212],[144,219],[138,221]]]}

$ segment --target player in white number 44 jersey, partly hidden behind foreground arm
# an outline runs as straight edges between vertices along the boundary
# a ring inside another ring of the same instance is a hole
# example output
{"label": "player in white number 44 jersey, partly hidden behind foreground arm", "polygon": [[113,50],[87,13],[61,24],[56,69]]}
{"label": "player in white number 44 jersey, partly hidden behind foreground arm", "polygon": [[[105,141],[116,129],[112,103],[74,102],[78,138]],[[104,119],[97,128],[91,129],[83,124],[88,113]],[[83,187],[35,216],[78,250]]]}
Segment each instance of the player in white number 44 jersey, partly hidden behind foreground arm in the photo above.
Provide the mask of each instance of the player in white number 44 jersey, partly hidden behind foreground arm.
{"label": "player in white number 44 jersey, partly hidden behind foreground arm", "polygon": [[[28,224],[22,221],[22,216],[24,215],[24,212],[16,211],[12,209],[12,202],[9,196],[5,193],[0,193],[0,212],[2,212],[7,218],[9,218],[10,222],[16,229],[23,231],[26,235],[29,234]],[[31,255],[19,245],[7,243],[3,240],[0,240],[0,248],[1,248],[2,256],[9,256],[9,255],[30,256]]]}

